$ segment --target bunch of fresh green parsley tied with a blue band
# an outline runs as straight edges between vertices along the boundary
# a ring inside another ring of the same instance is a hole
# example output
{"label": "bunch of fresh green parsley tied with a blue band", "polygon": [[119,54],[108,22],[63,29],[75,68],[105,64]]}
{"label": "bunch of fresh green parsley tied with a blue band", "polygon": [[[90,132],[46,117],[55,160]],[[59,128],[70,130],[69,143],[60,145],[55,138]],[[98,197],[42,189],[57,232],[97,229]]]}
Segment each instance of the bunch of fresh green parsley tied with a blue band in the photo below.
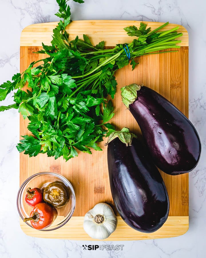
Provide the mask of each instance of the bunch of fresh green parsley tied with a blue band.
{"label": "bunch of fresh green parsley tied with a blue band", "polygon": [[[29,119],[27,128],[33,136],[23,136],[17,144],[19,152],[29,157],[47,153],[48,157],[63,156],[67,161],[78,155],[77,150],[90,154],[91,148],[102,150],[97,143],[115,130],[108,123],[114,107],[106,100],[108,95],[113,99],[116,92],[115,71],[129,62],[134,69],[138,64],[134,58],[138,56],[179,48],[176,44],[181,41],[176,38],[182,34],[177,33],[178,27],[159,32],[168,23],[153,31],[140,23],[140,28],[124,28],[137,39],[113,49],[105,49],[104,41],[93,46],[86,35],[83,40],[77,36],[69,41],[66,26],[71,22],[70,7],[66,0],[56,1],[60,7],[56,15],[62,20],[53,30],[51,46],[42,43],[43,49],[38,52],[47,54],[47,58],[32,62],[22,74],[14,75],[12,82],[0,86],[0,101],[16,90],[15,103],[1,106],[0,111],[16,108],[24,119]],[[25,84],[27,91],[22,90]]]}

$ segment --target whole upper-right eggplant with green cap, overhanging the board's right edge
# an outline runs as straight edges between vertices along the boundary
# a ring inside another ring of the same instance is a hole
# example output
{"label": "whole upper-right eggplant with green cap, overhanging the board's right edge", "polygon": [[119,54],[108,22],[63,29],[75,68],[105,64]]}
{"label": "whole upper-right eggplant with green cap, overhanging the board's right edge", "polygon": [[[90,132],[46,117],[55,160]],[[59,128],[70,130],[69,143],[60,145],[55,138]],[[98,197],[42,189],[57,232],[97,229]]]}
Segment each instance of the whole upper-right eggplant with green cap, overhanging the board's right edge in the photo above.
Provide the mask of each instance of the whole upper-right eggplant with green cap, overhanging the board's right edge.
{"label": "whole upper-right eggplant with green cap, overhanging the board's right edge", "polygon": [[193,124],[156,91],[136,84],[121,89],[122,101],[136,119],[157,167],[170,175],[193,170],[201,142]]}

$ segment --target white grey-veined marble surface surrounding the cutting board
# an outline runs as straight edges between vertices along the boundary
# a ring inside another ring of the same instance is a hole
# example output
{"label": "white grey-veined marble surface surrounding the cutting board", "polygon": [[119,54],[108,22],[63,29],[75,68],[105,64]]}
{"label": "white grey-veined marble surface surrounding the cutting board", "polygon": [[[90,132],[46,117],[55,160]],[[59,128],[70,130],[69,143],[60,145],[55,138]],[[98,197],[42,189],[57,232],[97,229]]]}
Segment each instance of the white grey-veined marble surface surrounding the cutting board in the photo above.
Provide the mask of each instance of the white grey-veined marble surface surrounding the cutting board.
{"label": "white grey-veined marble surface surrounding the cutting board", "polygon": [[[189,230],[183,236],[147,241],[86,242],[38,239],[19,226],[16,195],[19,188],[19,114],[0,113],[0,257],[205,257],[206,229],[206,3],[201,0],[85,0],[69,1],[72,19],[128,19],[182,24],[189,32],[189,118],[201,137],[202,155],[189,174]],[[21,30],[30,24],[58,21],[55,0],[0,0],[0,84],[19,71]],[[12,103],[11,95],[4,104]],[[2,105],[3,103],[1,103]],[[88,251],[82,245],[123,244],[121,251]]]}

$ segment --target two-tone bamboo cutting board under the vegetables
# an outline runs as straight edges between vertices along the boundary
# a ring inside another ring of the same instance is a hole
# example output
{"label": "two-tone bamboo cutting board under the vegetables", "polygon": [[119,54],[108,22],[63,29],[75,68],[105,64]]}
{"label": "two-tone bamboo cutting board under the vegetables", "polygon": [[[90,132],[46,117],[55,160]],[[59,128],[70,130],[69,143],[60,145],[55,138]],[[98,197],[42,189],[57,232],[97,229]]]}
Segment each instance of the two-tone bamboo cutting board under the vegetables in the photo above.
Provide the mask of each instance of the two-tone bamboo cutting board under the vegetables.
{"label": "two-tone bamboo cutting board under the vegetables", "polygon": [[[70,34],[70,39],[74,39],[76,35],[83,38],[83,34],[86,34],[94,45],[105,40],[106,46],[112,47],[119,43],[130,43],[133,37],[127,36],[123,28],[133,25],[139,26],[139,24],[140,21],[73,21],[68,26],[67,31]],[[146,24],[152,30],[162,25],[162,23],[157,22],[146,22]],[[52,30],[56,26],[56,22],[33,24],[22,31],[20,41],[21,73],[31,62],[45,57],[43,54],[33,52],[41,49],[41,42],[50,44]],[[166,29],[175,26],[177,25],[169,24]],[[182,26],[179,26],[179,32],[183,32],[183,36],[180,38],[182,42],[178,52],[146,55],[138,58],[139,64],[134,71],[131,71],[131,66],[128,65],[116,72],[118,87],[113,101],[115,116],[111,123],[117,129],[128,127],[131,132],[140,134],[136,121],[121,102],[120,88],[131,83],[151,87],[170,100],[188,117],[188,33]],[[27,123],[28,120],[23,120],[20,116],[20,135],[30,134],[27,130]],[[42,232],[27,226],[20,220],[21,228],[26,234],[45,238],[94,240],[84,232],[85,213],[99,202],[110,204],[116,213],[110,192],[105,142],[106,140],[100,143],[103,151],[92,151],[92,155],[80,153],[78,157],[68,162],[62,158],[57,160],[48,158],[46,154],[32,158],[23,153],[20,154],[20,185],[35,173],[50,171],[66,177],[72,183],[76,193],[76,209],[66,225],[54,231]],[[165,181],[170,200],[169,217],[165,224],[156,232],[145,234],[130,228],[118,216],[117,229],[107,240],[155,239],[178,236],[187,232],[189,228],[188,174],[170,176],[161,172],[161,175]]]}

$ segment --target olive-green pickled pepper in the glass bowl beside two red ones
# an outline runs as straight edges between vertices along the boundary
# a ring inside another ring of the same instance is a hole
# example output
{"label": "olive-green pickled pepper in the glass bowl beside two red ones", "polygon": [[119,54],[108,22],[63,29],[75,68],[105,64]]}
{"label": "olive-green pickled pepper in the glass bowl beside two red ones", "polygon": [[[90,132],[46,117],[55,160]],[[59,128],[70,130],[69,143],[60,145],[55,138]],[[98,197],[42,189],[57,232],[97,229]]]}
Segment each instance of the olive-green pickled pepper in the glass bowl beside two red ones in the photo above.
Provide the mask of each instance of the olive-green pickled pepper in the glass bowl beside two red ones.
{"label": "olive-green pickled pepper in the glass bowl beside two red ones", "polygon": [[43,190],[43,200],[54,207],[62,207],[67,204],[69,196],[68,188],[60,181],[50,183]]}

